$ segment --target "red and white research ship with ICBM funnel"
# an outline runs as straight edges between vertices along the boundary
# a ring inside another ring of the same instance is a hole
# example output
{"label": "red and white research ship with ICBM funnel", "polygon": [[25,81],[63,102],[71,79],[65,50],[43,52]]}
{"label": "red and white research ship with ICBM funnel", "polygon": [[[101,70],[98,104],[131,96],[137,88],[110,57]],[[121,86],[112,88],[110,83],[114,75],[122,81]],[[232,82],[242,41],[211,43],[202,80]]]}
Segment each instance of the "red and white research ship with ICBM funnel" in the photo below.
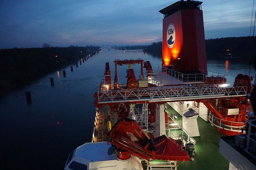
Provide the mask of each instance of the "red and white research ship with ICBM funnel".
{"label": "red and white research ship with ICBM funnel", "polygon": [[[65,170],[176,170],[179,162],[197,159],[193,137],[200,136],[198,117],[227,137],[240,135],[244,142],[245,134],[252,134],[251,126],[256,125],[249,122],[248,132],[245,129],[248,113],[253,114],[249,98],[253,79],[239,74],[230,86],[225,74],[207,70],[202,3],[181,0],[159,11],[164,18],[158,70],[143,59],[116,59],[112,80],[105,63],[105,78],[93,95],[92,142],[68,155]],[[137,64],[136,78],[132,66]],[[124,65],[127,81],[120,84],[117,66]],[[247,150],[253,150],[248,147],[254,138],[247,139]],[[230,169],[241,167],[227,159]]]}

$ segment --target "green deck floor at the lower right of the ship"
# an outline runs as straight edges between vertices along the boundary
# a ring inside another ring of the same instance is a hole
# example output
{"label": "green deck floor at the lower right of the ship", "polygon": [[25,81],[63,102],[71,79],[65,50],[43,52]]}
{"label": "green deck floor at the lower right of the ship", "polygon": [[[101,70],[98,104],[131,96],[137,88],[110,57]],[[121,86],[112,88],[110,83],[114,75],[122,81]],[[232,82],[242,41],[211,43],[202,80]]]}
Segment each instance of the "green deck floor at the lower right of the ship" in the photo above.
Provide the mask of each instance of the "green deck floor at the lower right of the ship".
{"label": "green deck floor at the lower right of the ship", "polygon": [[[229,161],[224,158],[219,152],[220,137],[223,134],[217,131],[216,127],[205,122],[201,117],[197,119],[200,137],[193,137],[196,140],[195,160],[187,161],[180,166],[178,170],[228,170]],[[181,162],[180,162],[181,163]]]}

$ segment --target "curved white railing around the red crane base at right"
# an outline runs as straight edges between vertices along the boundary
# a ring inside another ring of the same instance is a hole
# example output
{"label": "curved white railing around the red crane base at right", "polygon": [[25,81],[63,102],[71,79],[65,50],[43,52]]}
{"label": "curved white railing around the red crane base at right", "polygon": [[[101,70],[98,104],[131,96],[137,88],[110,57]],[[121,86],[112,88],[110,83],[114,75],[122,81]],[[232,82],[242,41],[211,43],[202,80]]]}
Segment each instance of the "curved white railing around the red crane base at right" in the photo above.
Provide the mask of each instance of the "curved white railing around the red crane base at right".
{"label": "curved white railing around the red crane base at right", "polygon": [[244,128],[243,122],[232,122],[224,119],[220,119],[214,116],[212,113],[209,115],[209,122],[217,128],[232,131],[232,132],[242,132]]}

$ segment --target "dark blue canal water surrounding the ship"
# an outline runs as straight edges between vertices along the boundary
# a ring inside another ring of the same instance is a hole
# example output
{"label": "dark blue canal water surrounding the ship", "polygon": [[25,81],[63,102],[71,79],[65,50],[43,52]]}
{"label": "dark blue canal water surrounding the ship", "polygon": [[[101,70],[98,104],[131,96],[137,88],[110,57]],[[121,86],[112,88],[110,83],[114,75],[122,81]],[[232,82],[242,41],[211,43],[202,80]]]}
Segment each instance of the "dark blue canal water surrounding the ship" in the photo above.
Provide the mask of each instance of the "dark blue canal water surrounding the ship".
{"label": "dark blue canal water surrounding the ship", "polygon": [[[86,57],[86,56],[84,56]],[[83,58],[84,58],[83,57]],[[63,77],[63,70],[48,74],[23,88],[0,98],[0,169],[63,169],[67,156],[77,146],[91,142],[95,107],[93,94],[104,78],[105,62],[109,62],[114,79],[115,59],[149,60],[154,72],[161,65],[161,56],[142,51],[103,49],[78,68],[74,63]],[[249,66],[228,61],[208,61],[208,69],[227,74],[228,84]],[[140,65],[133,65],[135,75]],[[126,81],[127,66],[118,66],[118,83]],[[251,66],[250,75],[255,75]],[[54,78],[54,86],[50,85]],[[32,104],[25,92],[30,91]]]}

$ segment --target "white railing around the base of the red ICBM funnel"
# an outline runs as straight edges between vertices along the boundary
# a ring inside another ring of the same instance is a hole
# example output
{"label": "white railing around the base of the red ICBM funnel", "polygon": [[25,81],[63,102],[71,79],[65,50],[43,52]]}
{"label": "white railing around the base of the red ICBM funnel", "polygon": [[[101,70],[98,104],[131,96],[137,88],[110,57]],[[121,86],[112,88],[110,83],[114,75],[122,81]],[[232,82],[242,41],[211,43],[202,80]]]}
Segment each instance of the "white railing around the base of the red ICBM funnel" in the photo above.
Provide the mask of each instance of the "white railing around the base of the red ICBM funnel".
{"label": "white railing around the base of the red ICBM funnel", "polygon": [[[206,70],[203,70],[203,73],[206,73]],[[213,71],[207,71],[206,74],[197,73],[197,74],[183,74],[180,72],[177,72],[175,70],[166,68],[162,66],[162,72],[174,77],[176,79],[179,79],[182,82],[212,82],[212,83],[225,83],[225,76],[226,74],[217,73]]]}

